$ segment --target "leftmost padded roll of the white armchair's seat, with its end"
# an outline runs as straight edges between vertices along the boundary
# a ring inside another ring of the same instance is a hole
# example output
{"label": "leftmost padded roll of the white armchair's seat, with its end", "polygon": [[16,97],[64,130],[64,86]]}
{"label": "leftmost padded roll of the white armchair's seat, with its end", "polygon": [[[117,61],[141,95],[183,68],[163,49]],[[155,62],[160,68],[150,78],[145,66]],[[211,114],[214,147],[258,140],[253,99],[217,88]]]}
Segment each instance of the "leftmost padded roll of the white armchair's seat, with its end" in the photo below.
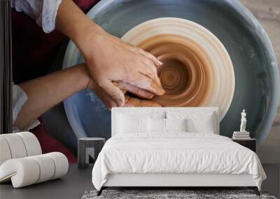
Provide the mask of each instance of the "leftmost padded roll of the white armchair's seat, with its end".
{"label": "leftmost padded roll of the white armchair's seat, with its end", "polygon": [[29,157],[10,159],[0,167],[0,182],[11,178],[14,188],[36,183],[39,175],[40,168],[37,161]]}

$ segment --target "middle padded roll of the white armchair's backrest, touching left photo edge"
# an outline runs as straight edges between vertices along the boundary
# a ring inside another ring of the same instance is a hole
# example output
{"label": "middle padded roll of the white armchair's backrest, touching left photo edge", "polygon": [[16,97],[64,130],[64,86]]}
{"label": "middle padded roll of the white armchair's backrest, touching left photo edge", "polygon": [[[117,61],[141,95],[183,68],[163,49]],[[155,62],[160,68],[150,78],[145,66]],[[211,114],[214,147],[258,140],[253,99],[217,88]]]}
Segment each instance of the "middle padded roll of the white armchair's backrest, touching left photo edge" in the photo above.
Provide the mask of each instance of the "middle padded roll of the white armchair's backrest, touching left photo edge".
{"label": "middle padded roll of the white armchair's backrest, touching left photo edge", "polygon": [[18,159],[27,156],[27,149],[25,149],[25,143],[23,142],[20,135],[17,135],[17,133],[9,133],[2,134],[1,137],[7,141],[12,159]]}

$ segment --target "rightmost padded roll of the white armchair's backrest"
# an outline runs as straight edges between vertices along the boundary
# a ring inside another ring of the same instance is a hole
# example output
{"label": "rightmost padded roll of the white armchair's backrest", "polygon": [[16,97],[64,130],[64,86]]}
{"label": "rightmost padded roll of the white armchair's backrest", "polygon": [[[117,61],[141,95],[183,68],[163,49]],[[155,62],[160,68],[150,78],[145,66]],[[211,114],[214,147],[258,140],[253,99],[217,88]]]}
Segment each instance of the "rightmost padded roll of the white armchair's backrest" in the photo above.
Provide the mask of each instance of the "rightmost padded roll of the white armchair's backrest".
{"label": "rightmost padded roll of the white armchair's backrest", "polygon": [[20,135],[22,138],[27,150],[27,156],[36,156],[42,154],[40,143],[33,133],[20,132],[16,133],[16,135]]}

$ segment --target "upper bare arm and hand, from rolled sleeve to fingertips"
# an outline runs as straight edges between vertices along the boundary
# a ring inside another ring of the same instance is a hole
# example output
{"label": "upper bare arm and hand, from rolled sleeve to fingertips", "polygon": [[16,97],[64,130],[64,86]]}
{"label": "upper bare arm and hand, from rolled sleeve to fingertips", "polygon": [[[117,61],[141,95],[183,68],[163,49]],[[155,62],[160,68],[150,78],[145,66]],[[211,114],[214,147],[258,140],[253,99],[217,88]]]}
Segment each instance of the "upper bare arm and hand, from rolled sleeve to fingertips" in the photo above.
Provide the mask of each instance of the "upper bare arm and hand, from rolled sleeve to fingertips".
{"label": "upper bare arm and hand, from rolled sleeve to fingertips", "polygon": [[156,95],[165,93],[155,68],[160,61],[152,54],[107,34],[73,1],[62,1],[55,26],[73,40],[83,54],[94,82],[118,106],[125,104],[125,96],[113,81],[129,84],[135,87],[134,90],[145,89]]}

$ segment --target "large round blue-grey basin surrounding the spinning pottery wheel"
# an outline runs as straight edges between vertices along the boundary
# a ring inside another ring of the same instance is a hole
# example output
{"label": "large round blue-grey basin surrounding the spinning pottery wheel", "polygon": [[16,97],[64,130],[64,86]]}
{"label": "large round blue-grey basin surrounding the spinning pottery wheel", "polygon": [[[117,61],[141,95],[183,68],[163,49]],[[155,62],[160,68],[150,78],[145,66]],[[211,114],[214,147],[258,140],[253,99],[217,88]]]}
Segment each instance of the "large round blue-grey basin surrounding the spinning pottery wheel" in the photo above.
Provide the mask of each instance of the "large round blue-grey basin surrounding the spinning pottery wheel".
{"label": "large round blue-grey basin surrounding the spinning pottery wheel", "polygon": [[[279,71],[272,45],[253,15],[239,1],[100,1],[87,15],[105,31],[122,37],[133,27],[159,17],[179,17],[202,25],[225,46],[235,72],[235,91],[220,134],[228,137],[247,112],[247,131],[264,142],[279,101]],[[83,62],[70,41],[63,68]],[[64,101],[69,123],[77,138],[111,137],[111,112],[89,89]]]}

